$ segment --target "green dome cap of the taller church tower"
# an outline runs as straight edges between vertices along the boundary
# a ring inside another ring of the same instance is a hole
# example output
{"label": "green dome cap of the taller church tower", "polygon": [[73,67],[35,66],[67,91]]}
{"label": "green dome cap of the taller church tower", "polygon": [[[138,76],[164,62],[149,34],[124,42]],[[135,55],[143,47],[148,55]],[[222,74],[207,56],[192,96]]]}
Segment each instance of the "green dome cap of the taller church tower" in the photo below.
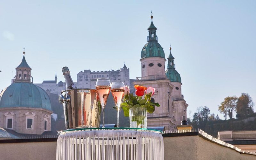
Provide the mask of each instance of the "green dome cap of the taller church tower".
{"label": "green dome cap of the taller church tower", "polygon": [[157,41],[149,41],[141,50],[141,59],[146,57],[165,58],[163,47]]}

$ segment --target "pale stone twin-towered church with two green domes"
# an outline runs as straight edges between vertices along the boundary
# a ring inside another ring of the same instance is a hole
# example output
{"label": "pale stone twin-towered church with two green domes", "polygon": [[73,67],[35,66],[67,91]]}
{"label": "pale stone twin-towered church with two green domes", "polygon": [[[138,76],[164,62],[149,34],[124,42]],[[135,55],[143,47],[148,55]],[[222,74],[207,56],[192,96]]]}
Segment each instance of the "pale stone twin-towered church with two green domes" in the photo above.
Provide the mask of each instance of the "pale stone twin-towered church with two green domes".
{"label": "pale stone twin-towered church with two green domes", "polygon": [[172,130],[176,125],[180,125],[182,116],[187,117],[188,104],[181,94],[181,78],[175,70],[171,47],[165,71],[165,54],[158,43],[156,30],[153,16],[151,16],[148,43],[141,51],[141,77],[137,77],[133,84],[156,88],[151,101],[158,102],[161,107],[155,107],[155,112],[148,114],[148,127],[164,126],[166,130]]}

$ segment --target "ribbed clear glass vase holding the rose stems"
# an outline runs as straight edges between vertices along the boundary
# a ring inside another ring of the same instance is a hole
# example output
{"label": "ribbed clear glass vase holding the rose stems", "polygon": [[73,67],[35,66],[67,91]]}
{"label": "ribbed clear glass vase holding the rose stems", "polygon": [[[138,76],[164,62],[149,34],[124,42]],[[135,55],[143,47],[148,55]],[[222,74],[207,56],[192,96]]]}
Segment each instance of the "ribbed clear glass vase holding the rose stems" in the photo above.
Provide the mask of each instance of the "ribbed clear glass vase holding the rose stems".
{"label": "ribbed clear glass vase holding the rose stems", "polygon": [[130,128],[147,128],[147,109],[133,107],[129,109]]}

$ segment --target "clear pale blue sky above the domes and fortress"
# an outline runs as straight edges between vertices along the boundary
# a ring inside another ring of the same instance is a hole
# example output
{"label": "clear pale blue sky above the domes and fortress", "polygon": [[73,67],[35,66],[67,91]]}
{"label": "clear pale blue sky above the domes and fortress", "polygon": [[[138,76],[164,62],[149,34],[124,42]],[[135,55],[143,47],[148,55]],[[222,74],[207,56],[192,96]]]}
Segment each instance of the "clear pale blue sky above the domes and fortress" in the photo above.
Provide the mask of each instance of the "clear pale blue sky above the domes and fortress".
{"label": "clear pale blue sky above the domes and fortress", "polygon": [[[34,83],[72,78],[84,69],[141,76],[140,52],[147,43],[150,11],[165,57],[172,55],[182,94],[192,114],[207,106],[215,115],[226,96],[242,92],[256,102],[256,1],[2,1],[0,89],[11,84],[22,59]],[[189,115],[188,115],[189,116]]]}

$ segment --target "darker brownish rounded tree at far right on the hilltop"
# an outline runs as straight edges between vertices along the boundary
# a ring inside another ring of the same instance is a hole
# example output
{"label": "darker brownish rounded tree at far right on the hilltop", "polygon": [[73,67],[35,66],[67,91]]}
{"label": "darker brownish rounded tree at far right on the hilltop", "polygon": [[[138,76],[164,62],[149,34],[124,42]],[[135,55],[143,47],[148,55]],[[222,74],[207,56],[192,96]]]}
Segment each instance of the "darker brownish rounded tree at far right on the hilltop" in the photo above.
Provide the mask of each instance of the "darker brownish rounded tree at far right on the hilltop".
{"label": "darker brownish rounded tree at far right on the hilltop", "polygon": [[247,93],[242,93],[236,102],[236,118],[243,118],[254,113],[253,107],[252,97]]}

